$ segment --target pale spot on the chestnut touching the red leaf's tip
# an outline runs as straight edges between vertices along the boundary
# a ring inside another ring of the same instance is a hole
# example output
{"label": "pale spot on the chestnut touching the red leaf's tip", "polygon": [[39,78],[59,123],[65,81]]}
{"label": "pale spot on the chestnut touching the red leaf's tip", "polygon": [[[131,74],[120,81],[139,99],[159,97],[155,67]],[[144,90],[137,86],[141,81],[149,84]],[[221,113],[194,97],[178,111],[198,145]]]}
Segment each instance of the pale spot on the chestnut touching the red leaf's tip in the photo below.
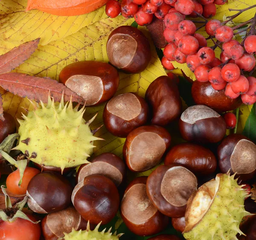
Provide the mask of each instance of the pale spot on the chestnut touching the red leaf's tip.
{"label": "pale spot on the chestnut touching the red leaf's tip", "polygon": [[104,87],[99,77],[73,75],[67,79],[65,85],[84,98],[86,105],[96,104],[102,98]]}

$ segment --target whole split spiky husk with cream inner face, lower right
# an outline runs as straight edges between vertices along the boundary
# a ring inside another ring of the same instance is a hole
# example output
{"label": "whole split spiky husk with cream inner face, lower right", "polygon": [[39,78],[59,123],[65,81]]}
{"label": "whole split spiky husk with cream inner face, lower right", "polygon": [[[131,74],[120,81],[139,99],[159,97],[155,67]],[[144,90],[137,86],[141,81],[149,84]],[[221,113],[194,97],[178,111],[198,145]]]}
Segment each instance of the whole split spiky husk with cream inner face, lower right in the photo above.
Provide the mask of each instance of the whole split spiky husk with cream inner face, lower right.
{"label": "whole split spiky husk with cream inner face, lower right", "polygon": [[248,193],[234,176],[218,173],[189,198],[183,231],[187,240],[236,240],[236,234],[243,234],[239,224],[250,215],[244,210]]}

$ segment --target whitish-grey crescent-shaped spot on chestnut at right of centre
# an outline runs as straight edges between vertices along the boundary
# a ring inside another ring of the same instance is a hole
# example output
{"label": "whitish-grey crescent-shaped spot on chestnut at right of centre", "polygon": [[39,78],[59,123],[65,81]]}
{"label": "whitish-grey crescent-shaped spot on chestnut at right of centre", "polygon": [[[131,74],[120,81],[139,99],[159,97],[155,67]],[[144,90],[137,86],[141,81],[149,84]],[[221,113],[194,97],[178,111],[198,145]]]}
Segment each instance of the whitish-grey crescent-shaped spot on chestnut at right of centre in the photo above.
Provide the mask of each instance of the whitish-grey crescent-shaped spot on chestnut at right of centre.
{"label": "whitish-grey crescent-shaped spot on chestnut at right of centre", "polygon": [[180,119],[186,123],[194,124],[201,119],[218,118],[220,115],[211,108],[204,105],[195,105],[187,108]]}

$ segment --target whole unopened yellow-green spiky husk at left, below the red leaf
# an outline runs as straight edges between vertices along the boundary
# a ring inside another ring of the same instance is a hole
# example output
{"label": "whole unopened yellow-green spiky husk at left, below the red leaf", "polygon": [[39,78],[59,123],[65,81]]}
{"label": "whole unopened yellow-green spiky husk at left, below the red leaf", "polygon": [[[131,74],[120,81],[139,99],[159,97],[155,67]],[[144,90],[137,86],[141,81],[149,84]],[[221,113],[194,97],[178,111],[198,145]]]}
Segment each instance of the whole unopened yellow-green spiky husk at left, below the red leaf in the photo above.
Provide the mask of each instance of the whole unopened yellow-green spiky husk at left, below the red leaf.
{"label": "whole unopened yellow-green spiky husk at left, below the red leaf", "polygon": [[42,166],[72,168],[87,163],[92,153],[93,141],[100,140],[90,130],[94,120],[83,119],[84,107],[73,109],[72,101],[64,104],[48,98],[48,104],[34,104],[20,123],[20,142],[15,149],[29,155],[29,159]]}

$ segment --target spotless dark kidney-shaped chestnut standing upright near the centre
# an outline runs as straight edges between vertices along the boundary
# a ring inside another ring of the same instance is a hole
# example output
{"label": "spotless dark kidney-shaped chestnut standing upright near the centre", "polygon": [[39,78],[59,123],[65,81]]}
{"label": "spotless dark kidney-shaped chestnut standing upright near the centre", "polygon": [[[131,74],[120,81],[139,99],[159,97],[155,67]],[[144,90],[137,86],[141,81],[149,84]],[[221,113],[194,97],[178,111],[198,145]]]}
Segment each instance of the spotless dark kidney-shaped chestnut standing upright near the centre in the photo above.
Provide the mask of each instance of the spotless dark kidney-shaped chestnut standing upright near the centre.
{"label": "spotless dark kidney-shaped chestnut standing upright near the centre", "polygon": [[165,126],[181,114],[182,103],[177,84],[168,76],[158,77],[148,86],[145,100],[153,109],[152,124]]}

